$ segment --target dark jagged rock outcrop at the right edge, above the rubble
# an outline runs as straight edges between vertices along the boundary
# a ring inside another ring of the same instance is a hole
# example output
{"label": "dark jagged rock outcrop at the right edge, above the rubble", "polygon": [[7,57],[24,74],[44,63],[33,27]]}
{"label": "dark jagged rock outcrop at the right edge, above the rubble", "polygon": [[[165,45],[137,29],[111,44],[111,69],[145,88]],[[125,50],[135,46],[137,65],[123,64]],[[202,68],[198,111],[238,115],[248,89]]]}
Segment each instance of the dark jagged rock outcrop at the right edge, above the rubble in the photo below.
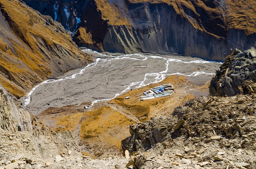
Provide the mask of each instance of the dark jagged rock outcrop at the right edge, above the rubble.
{"label": "dark jagged rock outcrop at the right edge, above the rubble", "polygon": [[[252,47],[244,52],[235,49],[226,58],[220,70],[216,71],[216,76],[212,78],[209,87],[210,94],[212,96],[235,96],[237,94],[247,93],[248,90],[246,89],[245,81],[256,82],[255,70],[255,48]],[[252,89],[251,92],[253,91]]]}

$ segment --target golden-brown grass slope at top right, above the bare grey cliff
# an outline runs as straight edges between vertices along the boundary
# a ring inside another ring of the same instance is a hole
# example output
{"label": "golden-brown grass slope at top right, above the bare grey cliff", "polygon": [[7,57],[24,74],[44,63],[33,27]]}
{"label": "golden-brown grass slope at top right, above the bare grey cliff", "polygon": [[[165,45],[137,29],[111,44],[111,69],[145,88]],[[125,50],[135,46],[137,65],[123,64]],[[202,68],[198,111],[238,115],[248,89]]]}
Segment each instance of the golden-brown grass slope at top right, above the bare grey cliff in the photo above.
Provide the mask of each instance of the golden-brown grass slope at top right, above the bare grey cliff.
{"label": "golden-brown grass slope at top right, above the bare grey cliff", "polygon": [[[137,3],[166,3],[178,15],[185,17],[198,30],[215,36],[226,35],[229,29],[256,33],[256,3],[254,0],[128,0]],[[189,17],[188,17],[189,15]]]}

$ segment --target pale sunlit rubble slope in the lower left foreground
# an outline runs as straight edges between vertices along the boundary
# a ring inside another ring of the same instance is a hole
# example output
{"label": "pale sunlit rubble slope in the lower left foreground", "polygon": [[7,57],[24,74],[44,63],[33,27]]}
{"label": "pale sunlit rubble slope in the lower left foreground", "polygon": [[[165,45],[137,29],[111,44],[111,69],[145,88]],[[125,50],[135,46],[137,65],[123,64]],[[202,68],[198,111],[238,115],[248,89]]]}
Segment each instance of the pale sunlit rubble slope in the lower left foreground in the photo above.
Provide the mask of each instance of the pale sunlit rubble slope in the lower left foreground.
{"label": "pale sunlit rubble slope in the lower left foreground", "polygon": [[0,85],[0,168],[124,168],[128,159],[82,156],[71,131],[52,132]]}

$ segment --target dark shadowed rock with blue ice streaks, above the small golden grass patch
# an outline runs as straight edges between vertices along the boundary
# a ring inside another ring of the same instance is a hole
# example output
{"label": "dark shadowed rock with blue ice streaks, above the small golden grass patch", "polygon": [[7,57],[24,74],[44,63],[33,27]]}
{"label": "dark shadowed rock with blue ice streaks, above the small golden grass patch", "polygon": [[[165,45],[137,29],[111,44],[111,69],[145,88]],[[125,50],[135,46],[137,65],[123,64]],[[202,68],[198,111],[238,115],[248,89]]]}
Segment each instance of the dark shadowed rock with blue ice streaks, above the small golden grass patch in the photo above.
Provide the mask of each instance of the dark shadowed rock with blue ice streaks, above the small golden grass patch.
{"label": "dark shadowed rock with blue ice streaks, above the small golden grass patch", "polygon": [[[95,36],[93,40],[103,41],[105,33],[100,34],[107,21],[101,19],[101,13],[97,10],[93,0],[25,0],[26,4],[41,12],[49,15],[54,20],[60,22],[65,29],[75,33],[79,27],[86,27],[87,33],[92,32]],[[98,34],[98,35],[97,35]],[[79,35],[76,35],[79,36]]]}

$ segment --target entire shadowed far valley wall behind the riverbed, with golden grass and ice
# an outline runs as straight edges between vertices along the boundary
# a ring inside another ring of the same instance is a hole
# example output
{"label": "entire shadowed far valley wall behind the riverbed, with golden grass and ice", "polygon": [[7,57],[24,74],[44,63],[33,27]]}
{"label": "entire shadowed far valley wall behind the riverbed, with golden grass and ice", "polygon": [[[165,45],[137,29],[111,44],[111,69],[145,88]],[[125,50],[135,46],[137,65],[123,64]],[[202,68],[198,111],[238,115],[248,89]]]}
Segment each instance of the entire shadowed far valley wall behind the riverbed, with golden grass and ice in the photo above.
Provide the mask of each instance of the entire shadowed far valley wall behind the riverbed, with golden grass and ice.
{"label": "entire shadowed far valley wall behind the riverbed, with golden grass and ice", "polygon": [[43,14],[57,16],[75,33],[79,46],[99,51],[177,53],[224,61],[232,49],[246,50],[256,43],[253,1],[25,2]]}

